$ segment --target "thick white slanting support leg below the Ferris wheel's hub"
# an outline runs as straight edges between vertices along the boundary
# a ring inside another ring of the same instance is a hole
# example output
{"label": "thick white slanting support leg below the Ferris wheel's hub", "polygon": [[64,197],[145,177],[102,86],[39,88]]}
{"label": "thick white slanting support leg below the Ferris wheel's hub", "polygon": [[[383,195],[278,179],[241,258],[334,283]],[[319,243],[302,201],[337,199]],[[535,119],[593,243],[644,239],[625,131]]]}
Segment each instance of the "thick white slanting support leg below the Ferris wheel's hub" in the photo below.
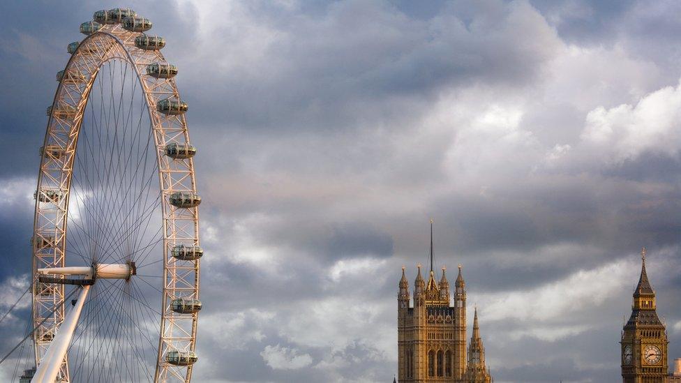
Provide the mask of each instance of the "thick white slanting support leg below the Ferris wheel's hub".
{"label": "thick white slanting support leg below the Ferris wheel's hub", "polygon": [[43,360],[40,361],[31,383],[54,383],[54,380],[57,379],[61,362],[66,355],[68,346],[71,344],[73,331],[75,331],[75,326],[78,324],[78,319],[80,318],[80,313],[83,310],[83,304],[85,303],[87,292],[89,291],[89,285],[82,287],[75,306],[66,315],[63,322],[61,322],[59,331],[57,331],[57,336],[54,336],[50,348],[47,349],[45,356],[43,356]]}

